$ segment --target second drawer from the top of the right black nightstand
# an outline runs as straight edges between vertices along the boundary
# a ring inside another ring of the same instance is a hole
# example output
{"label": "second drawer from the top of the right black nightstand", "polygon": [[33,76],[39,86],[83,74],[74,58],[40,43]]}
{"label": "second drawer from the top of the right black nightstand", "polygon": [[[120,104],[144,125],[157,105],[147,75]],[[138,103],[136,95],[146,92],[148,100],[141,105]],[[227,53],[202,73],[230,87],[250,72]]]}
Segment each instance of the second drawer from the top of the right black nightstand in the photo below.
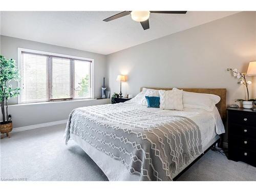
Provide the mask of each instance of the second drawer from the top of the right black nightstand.
{"label": "second drawer from the top of the right black nightstand", "polygon": [[256,138],[256,127],[230,123],[228,131],[230,135]]}

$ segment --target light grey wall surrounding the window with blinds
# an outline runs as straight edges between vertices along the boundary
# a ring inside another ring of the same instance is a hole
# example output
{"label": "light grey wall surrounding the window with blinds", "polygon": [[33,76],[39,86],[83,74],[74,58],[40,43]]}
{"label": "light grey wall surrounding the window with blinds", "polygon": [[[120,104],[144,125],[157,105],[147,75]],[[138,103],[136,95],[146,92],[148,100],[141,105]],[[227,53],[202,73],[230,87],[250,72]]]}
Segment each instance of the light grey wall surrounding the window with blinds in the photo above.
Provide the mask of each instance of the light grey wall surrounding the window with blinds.
{"label": "light grey wall surrounding the window with blinds", "polygon": [[[34,49],[52,53],[73,55],[94,59],[94,80],[95,80],[95,98],[100,97],[100,89],[103,77],[106,77],[106,57],[105,55],[59,47],[41,42],[35,42],[25,39],[13,38],[1,35],[1,54],[6,58],[17,60],[17,48]],[[13,83],[13,87],[17,83]],[[17,97],[9,100],[9,114],[12,115],[13,127],[22,127],[52,121],[68,119],[70,112],[81,106],[97,105],[110,103],[110,99],[103,100],[83,100],[83,101],[64,101],[36,104],[17,105]],[[2,112],[1,112],[2,115]]]}

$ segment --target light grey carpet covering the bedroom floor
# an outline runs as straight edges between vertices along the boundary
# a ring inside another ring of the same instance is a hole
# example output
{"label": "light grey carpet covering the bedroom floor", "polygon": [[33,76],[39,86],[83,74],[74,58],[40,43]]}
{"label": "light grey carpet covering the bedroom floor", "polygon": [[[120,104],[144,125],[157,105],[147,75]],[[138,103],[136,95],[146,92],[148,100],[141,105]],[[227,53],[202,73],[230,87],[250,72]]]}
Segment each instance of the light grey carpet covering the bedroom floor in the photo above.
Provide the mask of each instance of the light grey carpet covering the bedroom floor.
{"label": "light grey carpet covering the bedroom floor", "polygon": [[[100,168],[70,141],[63,141],[65,124],[13,133],[1,140],[2,180],[33,181],[107,181]],[[256,167],[229,161],[208,151],[178,180],[182,181],[256,181]]]}

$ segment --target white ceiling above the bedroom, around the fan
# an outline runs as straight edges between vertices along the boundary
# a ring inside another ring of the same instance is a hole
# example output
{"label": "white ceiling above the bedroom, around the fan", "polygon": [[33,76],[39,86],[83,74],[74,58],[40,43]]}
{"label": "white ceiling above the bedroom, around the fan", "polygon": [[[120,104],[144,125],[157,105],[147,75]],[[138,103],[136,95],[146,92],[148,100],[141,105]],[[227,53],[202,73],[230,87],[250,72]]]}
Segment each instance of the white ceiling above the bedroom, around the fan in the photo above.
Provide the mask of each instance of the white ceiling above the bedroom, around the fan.
{"label": "white ceiling above the bedroom, around the fan", "polygon": [[[118,11],[119,12],[119,11]],[[237,12],[151,14],[143,30],[130,15],[103,22],[117,11],[1,12],[1,34],[100,54],[110,54]]]}

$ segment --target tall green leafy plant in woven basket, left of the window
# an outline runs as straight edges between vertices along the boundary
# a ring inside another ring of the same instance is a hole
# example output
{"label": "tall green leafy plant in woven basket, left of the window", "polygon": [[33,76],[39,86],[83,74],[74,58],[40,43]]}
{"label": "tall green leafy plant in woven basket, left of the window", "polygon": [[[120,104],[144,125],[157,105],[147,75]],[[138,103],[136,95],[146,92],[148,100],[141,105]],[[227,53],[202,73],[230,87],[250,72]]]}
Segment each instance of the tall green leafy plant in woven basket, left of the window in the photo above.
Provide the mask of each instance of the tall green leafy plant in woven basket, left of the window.
{"label": "tall green leafy plant in woven basket, left of the window", "polygon": [[2,110],[2,119],[0,122],[1,134],[7,134],[12,131],[12,121],[8,121],[8,99],[16,97],[19,94],[20,88],[12,88],[11,80],[18,81],[19,73],[16,67],[15,60],[6,59],[0,55],[0,102]]}

